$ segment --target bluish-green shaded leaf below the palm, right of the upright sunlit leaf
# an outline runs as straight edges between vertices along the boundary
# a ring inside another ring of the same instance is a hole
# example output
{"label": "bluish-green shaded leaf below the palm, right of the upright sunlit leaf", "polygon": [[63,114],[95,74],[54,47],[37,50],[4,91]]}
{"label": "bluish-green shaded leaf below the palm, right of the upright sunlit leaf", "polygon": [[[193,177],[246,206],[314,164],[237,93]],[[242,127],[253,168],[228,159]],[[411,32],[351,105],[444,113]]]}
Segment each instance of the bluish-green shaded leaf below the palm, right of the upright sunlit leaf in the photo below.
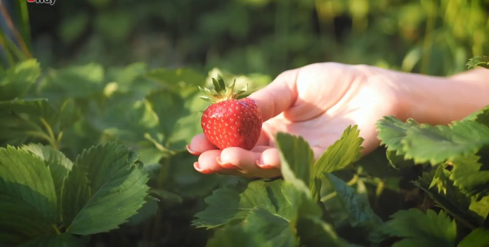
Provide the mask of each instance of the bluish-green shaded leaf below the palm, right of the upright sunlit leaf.
{"label": "bluish-green shaded leaf below the palm, right of the upright sunlit leaf", "polygon": [[358,226],[372,230],[382,224],[370,207],[365,188],[357,192],[343,180],[327,173],[321,182],[321,202],[335,228]]}

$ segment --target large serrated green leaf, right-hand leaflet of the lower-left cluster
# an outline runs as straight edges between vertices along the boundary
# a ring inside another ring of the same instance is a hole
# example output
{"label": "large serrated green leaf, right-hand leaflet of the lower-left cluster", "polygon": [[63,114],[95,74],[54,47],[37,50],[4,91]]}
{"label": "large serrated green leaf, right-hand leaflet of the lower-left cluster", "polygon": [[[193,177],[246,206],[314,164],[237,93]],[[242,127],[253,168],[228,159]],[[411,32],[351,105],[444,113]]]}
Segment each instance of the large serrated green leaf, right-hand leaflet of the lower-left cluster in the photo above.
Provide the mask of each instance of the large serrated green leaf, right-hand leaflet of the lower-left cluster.
{"label": "large serrated green leaf, right-hand leaflet of the lower-left cluster", "polygon": [[143,205],[147,181],[138,155],[126,146],[109,143],[85,150],[65,184],[67,232],[89,235],[117,228]]}

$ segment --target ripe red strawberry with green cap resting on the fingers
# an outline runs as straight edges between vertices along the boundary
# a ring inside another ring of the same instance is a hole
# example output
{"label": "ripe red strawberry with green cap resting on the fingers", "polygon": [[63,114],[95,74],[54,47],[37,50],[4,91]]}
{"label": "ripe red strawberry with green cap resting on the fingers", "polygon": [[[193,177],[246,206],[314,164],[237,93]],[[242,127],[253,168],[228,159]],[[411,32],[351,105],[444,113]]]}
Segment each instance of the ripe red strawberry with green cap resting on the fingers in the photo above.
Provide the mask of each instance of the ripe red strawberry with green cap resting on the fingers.
{"label": "ripe red strawberry with green cap resting on the fingers", "polygon": [[207,95],[200,98],[212,103],[204,110],[200,121],[205,137],[221,150],[231,146],[251,150],[262,131],[262,112],[252,99],[236,99],[246,91],[247,85],[234,92],[236,80],[226,87],[218,75],[212,82],[215,94],[199,86]]}

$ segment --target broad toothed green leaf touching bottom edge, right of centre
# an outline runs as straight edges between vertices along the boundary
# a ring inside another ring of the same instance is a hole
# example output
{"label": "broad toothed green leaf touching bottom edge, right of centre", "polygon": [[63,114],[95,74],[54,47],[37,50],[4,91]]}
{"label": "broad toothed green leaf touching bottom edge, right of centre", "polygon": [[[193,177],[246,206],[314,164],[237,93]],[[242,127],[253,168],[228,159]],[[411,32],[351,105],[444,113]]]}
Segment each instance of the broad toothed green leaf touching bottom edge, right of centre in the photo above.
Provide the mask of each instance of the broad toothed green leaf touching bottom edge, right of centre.
{"label": "broad toothed green leaf touching bottom edge, right of centre", "polygon": [[455,245],[457,225],[443,211],[437,214],[428,209],[424,214],[412,208],[400,210],[391,218],[381,227],[381,231],[391,237],[402,238],[392,247]]}

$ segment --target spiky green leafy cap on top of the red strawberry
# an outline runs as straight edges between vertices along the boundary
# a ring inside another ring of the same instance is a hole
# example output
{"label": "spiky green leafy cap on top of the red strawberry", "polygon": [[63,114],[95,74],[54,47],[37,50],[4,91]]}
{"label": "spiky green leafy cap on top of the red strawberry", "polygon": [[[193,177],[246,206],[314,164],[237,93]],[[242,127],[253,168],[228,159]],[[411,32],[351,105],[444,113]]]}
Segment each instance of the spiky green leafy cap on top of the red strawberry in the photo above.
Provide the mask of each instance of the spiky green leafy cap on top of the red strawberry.
{"label": "spiky green leafy cap on top of the red strawberry", "polygon": [[200,92],[206,95],[199,96],[200,99],[210,103],[219,103],[222,101],[234,100],[238,98],[238,96],[246,92],[246,90],[248,89],[248,84],[246,84],[243,89],[235,92],[234,85],[236,84],[236,79],[234,79],[229,86],[226,86],[224,80],[220,75],[217,75],[217,78],[212,78],[212,84],[216,93],[213,93],[208,88],[199,86]]}

